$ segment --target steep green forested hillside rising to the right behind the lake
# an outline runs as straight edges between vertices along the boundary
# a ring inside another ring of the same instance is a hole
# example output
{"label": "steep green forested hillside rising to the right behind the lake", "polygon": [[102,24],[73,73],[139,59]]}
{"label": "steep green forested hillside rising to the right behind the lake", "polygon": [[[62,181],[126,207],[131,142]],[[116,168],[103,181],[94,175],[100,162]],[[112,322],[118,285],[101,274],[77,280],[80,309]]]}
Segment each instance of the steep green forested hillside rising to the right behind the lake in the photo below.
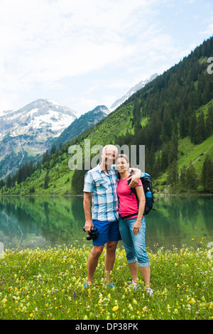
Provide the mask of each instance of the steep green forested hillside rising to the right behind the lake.
{"label": "steep green forested hillside rising to the right behind the lake", "polygon": [[146,146],[146,171],[156,193],[212,193],[213,74],[207,59],[213,38],[204,41],[178,65],[138,90],[91,129],[52,147],[36,166],[26,164],[1,181],[1,193],[82,193],[84,173],[70,171],[70,145]]}

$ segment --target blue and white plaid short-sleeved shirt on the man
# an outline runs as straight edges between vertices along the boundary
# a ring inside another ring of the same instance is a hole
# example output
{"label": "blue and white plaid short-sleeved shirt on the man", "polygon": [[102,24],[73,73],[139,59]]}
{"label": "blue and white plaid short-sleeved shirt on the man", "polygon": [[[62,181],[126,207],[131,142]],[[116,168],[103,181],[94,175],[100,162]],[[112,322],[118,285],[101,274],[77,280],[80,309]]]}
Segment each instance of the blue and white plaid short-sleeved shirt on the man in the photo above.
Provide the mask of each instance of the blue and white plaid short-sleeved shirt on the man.
{"label": "blue and white plaid short-sleeved shirt on the man", "polygon": [[113,222],[119,219],[117,185],[119,178],[114,166],[104,172],[97,165],[85,174],[84,192],[92,193],[92,219]]}

